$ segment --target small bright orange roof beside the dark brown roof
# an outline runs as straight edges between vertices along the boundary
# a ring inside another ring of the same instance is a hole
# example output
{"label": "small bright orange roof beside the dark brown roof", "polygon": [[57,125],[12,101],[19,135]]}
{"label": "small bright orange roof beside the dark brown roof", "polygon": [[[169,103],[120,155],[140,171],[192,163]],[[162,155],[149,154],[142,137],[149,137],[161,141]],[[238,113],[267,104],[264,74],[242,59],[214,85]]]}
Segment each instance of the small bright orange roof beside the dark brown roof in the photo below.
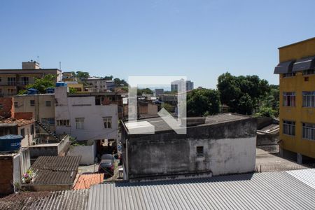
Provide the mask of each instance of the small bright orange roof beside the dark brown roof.
{"label": "small bright orange roof beside the dark brown roof", "polygon": [[73,190],[89,189],[91,186],[103,183],[103,181],[104,174],[81,174]]}

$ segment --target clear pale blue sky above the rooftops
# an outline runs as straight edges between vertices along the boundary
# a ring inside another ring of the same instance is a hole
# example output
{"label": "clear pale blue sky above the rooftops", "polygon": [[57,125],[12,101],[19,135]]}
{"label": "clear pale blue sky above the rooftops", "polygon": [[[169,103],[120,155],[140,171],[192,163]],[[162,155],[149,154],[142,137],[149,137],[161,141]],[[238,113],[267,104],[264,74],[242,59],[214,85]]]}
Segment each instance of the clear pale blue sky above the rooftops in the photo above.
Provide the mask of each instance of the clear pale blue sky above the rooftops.
{"label": "clear pale blue sky above the rooftops", "polygon": [[274,75],[278,49],[315,36],[314,0],[3,0],[0,69],[88,71],[91,76],[217,78]]}

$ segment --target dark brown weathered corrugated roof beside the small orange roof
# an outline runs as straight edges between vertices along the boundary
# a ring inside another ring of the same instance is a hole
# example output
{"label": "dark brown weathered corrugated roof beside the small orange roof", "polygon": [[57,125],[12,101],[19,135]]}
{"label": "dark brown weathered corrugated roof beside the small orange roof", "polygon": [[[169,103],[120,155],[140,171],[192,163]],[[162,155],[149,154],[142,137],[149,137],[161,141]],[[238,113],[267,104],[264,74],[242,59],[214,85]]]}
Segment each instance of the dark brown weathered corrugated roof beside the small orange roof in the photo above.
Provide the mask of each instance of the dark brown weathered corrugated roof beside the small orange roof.
{"label": "dark brown weathered corrugated roof beside the small orange roof", "polygon": [[76,179],[80,156],[41,156],[31,166],[34,184],[72,184]]}

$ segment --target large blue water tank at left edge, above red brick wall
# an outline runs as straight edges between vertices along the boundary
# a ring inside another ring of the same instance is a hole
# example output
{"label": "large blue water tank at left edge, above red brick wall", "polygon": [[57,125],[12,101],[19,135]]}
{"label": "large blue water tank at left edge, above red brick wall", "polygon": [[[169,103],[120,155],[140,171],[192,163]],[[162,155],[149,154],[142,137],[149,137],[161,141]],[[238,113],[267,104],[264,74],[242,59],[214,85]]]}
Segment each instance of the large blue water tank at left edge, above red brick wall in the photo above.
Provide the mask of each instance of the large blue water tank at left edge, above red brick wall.
{"label": "large blue water tank at left edge, above red brick wall", "polygon": [[0,137],[0,151],[10,152],[18,150],[21,146],[22,139],[23,137],[21,135],[13,134]]}

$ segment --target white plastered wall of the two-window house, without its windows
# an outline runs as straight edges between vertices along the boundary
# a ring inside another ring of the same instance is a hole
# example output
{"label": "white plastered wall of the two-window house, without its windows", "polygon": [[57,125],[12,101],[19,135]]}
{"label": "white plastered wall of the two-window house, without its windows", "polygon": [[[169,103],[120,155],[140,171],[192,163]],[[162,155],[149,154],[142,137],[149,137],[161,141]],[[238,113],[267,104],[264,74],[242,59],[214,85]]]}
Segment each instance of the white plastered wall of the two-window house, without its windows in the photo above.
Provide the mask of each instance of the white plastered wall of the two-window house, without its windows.
{"label": "white plastered wall of the two-window house, without its windows", "polygon": [[[67,97],[66,87],[56,87],[56,120],[70,120],[70,126],[57,126],[57,134],[69,134],[78,141],[117,139],[117,104],[95,105],[95,97]],[[104,128],[103,117],[111,117],[112,127]],[[84,128],[76,129],[76,118],[84,118]]]}

